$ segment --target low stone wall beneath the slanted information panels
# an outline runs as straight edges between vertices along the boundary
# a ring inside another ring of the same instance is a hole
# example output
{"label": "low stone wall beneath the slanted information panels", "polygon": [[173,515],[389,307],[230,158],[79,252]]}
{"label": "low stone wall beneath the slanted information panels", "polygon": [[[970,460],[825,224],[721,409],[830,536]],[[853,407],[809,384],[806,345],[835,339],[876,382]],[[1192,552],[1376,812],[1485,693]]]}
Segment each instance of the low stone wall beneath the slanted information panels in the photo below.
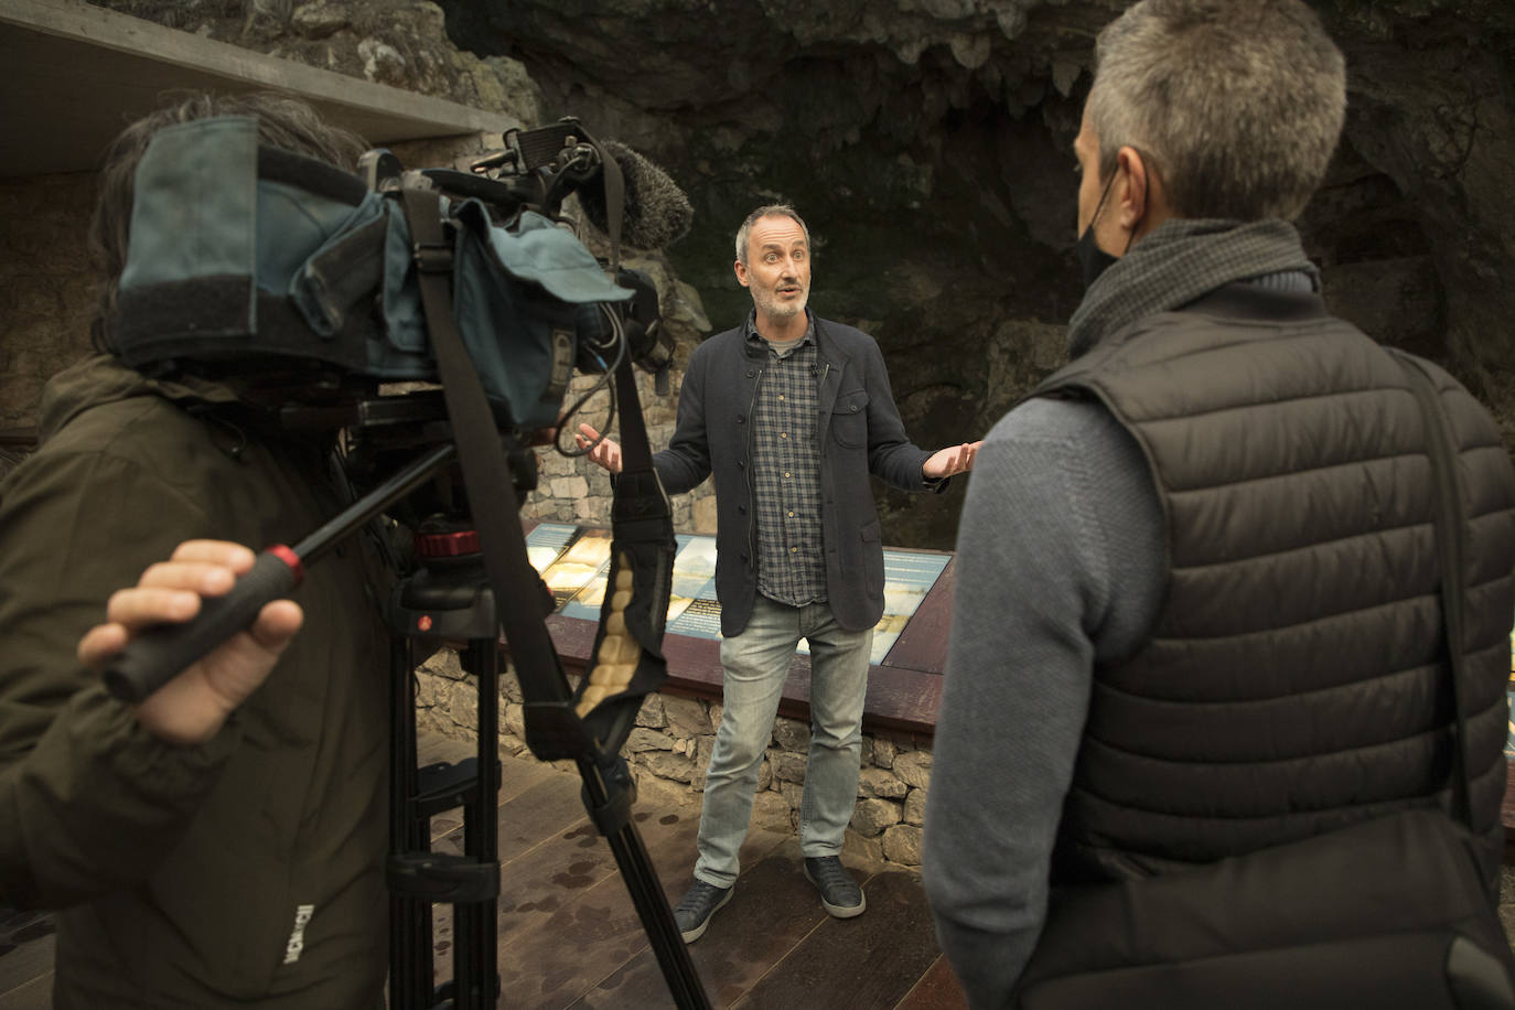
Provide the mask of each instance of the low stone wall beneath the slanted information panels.
{"label": "low stone wall beneath the slanted information panels", "polygon": [[[476,683],[444,650],[418,671],[417,725],[453,737],[477,739]],[[715,701],[648,695],[623,754],[644,795],[695,798],[704,792],[704,769],[715,745],[721,706]],[[500,751],[529,757],[521,689],[509,671],[500,677]],[[753,824],[773,831],[797,831],[804,789],[809,725],[779,718],[768,756],[758,772]],[[568,766],[565,763],[565,766]],[[847,828],[844,854],[859,862],[921,865],[921,824],[930,787],[930,739],[867,733],[857,807]],[[692,853],[691,853],[692,860]]]}

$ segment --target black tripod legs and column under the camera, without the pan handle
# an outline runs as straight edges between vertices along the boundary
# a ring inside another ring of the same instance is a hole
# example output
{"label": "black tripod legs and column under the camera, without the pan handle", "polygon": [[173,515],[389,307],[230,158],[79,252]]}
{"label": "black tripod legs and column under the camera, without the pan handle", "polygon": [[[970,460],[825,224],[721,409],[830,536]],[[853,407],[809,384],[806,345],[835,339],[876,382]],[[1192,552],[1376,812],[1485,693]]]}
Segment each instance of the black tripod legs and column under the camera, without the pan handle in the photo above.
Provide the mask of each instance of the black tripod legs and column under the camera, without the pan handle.
{"label": "black tripod legs and column under the camera, without the pan handle", "polygon": [[[391,647],[391,809],[388,884],[389,998],[405,1008],[477,1010],[498,998],[495,902],[500,893],[495,796],[500,789],[498,622],[494,592],[465,524],[423,525],[417,536],[420,571],[394,594]],[[545,592],[545,589],[542,589]],[[417,768],[415,678],[420,660],[441,641],[467,641],[464,669],[477,678],[479,750],[456,765]],[[418,654],[418,645],[426,654]],[[664,898],[658,874],[632,822],[635,786],[626,760],[604,754],[582,731],[568,698],[532,700],[527,736],[573,757],[583,778],[583,803],[611,843],[617,866],[647,931],[668,989],[680,1008],[708,1007],[688,948]],[[430,818],[462,807],[464,851],[430,851]],[[432,902],[453,906],[453,981],[435,989]]]}

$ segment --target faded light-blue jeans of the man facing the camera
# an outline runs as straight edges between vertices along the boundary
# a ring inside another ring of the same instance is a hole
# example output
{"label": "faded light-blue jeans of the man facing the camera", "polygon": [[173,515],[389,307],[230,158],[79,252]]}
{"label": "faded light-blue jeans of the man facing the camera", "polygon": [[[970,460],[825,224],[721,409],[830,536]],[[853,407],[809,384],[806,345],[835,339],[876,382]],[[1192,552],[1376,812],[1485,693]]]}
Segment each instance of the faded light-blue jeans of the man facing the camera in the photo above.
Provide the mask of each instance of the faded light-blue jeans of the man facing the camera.
{"label": "faded light-blue jeans of the man facing the camera", "polygon": [[847,631],[830,606],[791,607],[759,595],[747,628],[721,641],[721,727],[704,780],[700,860],[694,875],[717,887],[736,881],[736,854],[753,815],[783,681],[800,639],[811,644],[811,753],[800,801],[800,853],[838,856],[857,803],[862,703],[873,628]]}

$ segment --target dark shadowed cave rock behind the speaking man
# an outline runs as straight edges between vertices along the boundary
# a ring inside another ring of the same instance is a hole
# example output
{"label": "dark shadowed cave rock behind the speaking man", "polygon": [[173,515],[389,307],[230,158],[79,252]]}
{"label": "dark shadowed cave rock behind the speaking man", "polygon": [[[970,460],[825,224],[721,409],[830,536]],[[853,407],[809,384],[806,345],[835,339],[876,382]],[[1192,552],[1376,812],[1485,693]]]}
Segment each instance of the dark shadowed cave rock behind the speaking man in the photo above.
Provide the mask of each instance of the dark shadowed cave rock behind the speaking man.
{"label": "dark shadowed cave rock behind the speaking man", "polygon": [[[1124,6],[442,3],[461,48],[526,65],[544,114],[673,173],[697,221],[668,254],[718,329],[750,304],[736,226],[795,204],[812,306],[879,338],[921,444],[982,435],[1060,362],[1080,297],[1070,145],[1094,36]],[[1451,366],[1509,433],[1515,5],[1315,6],[1350,73],[1344,141],[1300,221],[1327,300]]]}

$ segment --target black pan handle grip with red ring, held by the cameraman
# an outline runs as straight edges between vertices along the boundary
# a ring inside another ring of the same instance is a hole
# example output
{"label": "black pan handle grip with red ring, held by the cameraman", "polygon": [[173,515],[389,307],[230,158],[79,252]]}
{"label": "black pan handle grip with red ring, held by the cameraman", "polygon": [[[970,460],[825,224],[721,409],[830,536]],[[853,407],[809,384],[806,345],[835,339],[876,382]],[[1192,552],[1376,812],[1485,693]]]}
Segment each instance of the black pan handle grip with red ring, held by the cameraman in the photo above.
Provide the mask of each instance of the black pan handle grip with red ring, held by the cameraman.
{"label": "black pan handle grip with red ring, held by the cameraman", "polygon": [[185,624],[159,624],[133,637],[105,671],[105,686],[121,701],[138,703],[256,618],[264,604],[300,583],[300,556],[279,544],[258,556],[251,571],[224,597],[205,597]]}

